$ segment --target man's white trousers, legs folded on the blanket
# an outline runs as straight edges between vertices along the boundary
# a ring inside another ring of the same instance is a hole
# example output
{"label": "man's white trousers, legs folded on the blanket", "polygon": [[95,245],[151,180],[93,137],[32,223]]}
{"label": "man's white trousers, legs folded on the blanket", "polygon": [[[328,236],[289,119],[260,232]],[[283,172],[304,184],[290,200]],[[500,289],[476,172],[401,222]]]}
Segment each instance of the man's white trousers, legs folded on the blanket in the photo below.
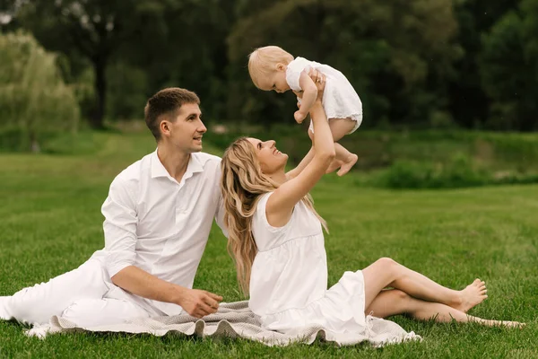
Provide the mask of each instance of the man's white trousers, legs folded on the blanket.
{"label": "man's white trousers, legs folded on the blanket", "polygon": [[90,259],[70,272],[47,283],[24,288],[0,298],[0,319],[16,319],[40,325],[53,316],[62,316],[77,326],[117,324],[124,320],[149,317],[134,303],[106,299],[110,282],[100,260]]}

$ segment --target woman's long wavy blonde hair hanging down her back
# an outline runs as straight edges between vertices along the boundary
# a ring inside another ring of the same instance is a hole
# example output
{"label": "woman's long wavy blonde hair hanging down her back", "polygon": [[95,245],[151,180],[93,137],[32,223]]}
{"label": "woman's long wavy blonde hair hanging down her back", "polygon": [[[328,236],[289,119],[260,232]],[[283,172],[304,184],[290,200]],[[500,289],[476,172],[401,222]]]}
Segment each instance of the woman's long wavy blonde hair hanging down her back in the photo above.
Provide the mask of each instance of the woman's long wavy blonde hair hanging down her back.
{"label": "woman's long wavy blonde hair hanging down her back", "polygon": [[[247,296],[252,263],[257,253],[252,217],[261,195],[278,188],[279,184],[262,173],[254,145],[246,137],[239,138],[226,149],[221,171],[224,224],[229,232],[228,253],[236,265],[239,287]],[[325,220],[317,214],[310,195],[301,201],[328,232]]]}

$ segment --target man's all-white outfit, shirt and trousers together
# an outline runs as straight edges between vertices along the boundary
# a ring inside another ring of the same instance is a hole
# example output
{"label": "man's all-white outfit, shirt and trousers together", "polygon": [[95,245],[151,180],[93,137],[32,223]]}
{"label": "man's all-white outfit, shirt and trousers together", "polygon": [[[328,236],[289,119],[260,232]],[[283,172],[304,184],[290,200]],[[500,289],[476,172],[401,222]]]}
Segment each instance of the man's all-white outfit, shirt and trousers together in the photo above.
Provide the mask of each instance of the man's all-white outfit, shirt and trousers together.
{"label": "man's all-white outfit, shirt and trousers together", "polygon": [[[134,162],[117,175],[102,206],[104,250],[46,284],[2,298],[0,319],[42,324],[68,310],[69,318],[94,323],[91,320],[103,320],[97,311],[109,320],[180,313],[177,304],[127,293],[110,277],[133,265],[170,283],[192,287],[213,217],[222,223],[220,163],[211,154],[192,153],[178,183],[156,152]],[[87,312],[91,306],[94,310]]]}

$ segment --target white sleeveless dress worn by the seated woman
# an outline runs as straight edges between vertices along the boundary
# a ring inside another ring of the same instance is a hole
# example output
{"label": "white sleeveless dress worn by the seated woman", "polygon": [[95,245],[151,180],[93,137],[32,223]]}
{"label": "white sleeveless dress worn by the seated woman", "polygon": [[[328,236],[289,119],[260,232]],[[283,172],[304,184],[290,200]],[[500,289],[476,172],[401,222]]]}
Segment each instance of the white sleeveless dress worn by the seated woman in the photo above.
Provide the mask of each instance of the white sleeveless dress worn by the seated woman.
{"label": "white sleeveless dress worn by the seated woman", "polygon": [[363,333],[364,279],[346,272],[327,290],[327,264],[321,223],[302,202],[290,222],[275,228],[265,206],[273,192],[257,203],[252,222],[258,252],[250,275],[250,309],[262,327],[295,333],[319,325],[336,333]]}

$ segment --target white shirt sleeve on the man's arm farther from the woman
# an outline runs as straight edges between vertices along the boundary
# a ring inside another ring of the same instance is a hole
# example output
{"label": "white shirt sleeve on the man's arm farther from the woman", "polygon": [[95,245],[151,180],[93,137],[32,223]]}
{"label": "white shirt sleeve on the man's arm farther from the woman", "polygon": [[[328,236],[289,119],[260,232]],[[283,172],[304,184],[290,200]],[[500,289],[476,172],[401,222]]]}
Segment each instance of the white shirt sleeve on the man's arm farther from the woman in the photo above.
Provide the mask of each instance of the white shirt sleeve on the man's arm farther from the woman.
{"label": "white shirt sleeve on the man's arm farther from the woman", "polygon": [[114,180],[108,197],[101,207],[105,216],[105,265],[110,277],[125,267],[134,265],[136,258],[136,214],[135,198],[126,182]]}

